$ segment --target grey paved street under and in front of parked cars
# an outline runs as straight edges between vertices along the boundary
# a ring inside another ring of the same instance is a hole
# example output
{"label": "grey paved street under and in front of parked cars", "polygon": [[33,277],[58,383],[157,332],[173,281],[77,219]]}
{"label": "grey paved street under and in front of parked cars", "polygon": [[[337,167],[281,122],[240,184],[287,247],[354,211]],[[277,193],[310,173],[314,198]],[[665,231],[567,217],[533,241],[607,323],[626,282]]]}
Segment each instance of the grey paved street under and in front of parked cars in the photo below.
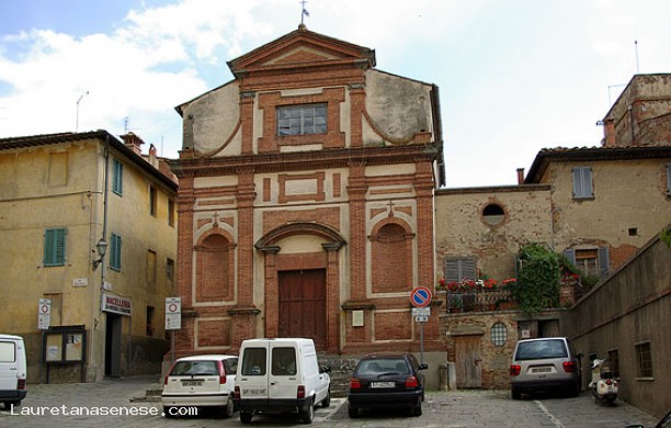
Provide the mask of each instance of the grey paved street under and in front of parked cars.
{"label": "grey paved street under and in front of parked cars", "polygon": [[[106,380],[89,384],[29,385],[21,407],[0,409],[0,427],[241,427],[238,414],[220,419],[214,414],[167,419],[160,403],[146,391],[159,387],[156,376]],[[583,392],[578,398],[534,397],[513,402],[508,391],[429,392],[420,417],[405,413],[364,414],[350,419],[343,398],[317,408],[316,427],[515,427],[618,428],[655,425],[655,418],[618,401],[614,407],[594,404]],[[89,415],[82,415],[89,413]],[[94,415],[98,413],[99,415]],[[107,414],[101,416],[100,414]],[[254,416],[251,426],[293,427],[295,418]]]}

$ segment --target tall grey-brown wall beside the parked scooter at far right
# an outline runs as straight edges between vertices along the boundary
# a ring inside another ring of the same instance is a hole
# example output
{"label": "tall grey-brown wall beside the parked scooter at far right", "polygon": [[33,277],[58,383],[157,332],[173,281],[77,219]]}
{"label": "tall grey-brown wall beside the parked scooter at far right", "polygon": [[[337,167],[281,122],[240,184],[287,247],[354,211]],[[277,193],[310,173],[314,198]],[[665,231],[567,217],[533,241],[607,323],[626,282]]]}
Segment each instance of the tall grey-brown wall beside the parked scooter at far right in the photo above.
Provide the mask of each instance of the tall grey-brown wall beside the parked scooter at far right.
{"label": "tall grey-brown wall beside the parked scooter at far right", "polygon": [[[587,356],[619,360],[619,397],[658,417],[671,408],[671,249],[658,237],[562,319],[564,333]],[[636,345],[650,343],[652,376],[638,374]],[[587,358],[585,360],[587,361]],[[583,364],[583,379],[589,379]]]}

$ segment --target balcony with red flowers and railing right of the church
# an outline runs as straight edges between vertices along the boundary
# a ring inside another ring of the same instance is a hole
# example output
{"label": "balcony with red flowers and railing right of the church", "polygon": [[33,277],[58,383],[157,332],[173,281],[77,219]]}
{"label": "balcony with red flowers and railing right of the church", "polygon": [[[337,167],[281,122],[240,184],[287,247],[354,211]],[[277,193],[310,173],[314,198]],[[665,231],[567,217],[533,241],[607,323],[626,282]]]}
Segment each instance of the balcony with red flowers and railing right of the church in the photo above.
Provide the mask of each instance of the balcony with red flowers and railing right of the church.
{"label": "balcony with red flowers and railing right of the church", "polygon": [[437,289],[445,291],[447,313],[503,311],[516,307],[511,285],[515,279],[498,283],[490,278],[439,280]]}

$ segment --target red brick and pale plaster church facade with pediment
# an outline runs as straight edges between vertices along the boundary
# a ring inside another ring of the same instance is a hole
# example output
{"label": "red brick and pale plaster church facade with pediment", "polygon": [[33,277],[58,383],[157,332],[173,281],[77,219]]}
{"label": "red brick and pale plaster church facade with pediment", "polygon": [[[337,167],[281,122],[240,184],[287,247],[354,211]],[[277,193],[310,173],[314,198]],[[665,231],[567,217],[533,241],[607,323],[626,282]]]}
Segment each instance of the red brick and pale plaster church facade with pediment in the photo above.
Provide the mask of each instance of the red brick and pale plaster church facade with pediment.
{"label": "red brick and pale plaster church facade with pediment", "polygon": [[[443,184],[437,88],[300,25],[177,108],[177,356],[310,337],[330,354],[419,349]],[[424,350],[444,356],[439,317]]]}

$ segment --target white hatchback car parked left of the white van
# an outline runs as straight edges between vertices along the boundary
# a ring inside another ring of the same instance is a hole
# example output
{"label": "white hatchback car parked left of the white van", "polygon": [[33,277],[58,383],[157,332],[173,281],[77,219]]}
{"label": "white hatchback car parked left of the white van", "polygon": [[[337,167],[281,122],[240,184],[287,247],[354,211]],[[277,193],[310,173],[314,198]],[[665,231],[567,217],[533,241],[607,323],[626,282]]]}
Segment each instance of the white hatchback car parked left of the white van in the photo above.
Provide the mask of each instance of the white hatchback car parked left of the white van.
{"label": "white hatchback car parked left of the white van", "polygon": [[194,356],[178,359],[166,375],[161,404],[166,417],[192,415],[182,407],[216,407],[231,417],[238,357]]}

